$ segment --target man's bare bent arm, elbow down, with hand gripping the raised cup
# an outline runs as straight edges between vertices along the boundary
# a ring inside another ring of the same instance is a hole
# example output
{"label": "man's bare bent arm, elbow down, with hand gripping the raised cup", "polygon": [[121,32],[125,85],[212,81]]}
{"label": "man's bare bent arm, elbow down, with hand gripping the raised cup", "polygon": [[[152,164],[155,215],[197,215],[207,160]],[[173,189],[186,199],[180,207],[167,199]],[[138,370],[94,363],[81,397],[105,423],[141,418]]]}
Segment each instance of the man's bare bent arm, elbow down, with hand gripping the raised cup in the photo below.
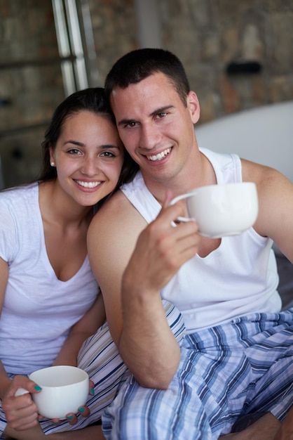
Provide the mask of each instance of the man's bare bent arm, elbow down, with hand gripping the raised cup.
{"label": "man's bare bent arm, elbow down, with hand gripping the raised cup", "polygon": [[88,231],[90,262],[111,335],[144,387],[168,387],[179,363],[159,291],[195,254],[198,239],[196,224],[171,226],[178,215],[178,207],[163,209],[147,226],[118,193],[97,212]]}

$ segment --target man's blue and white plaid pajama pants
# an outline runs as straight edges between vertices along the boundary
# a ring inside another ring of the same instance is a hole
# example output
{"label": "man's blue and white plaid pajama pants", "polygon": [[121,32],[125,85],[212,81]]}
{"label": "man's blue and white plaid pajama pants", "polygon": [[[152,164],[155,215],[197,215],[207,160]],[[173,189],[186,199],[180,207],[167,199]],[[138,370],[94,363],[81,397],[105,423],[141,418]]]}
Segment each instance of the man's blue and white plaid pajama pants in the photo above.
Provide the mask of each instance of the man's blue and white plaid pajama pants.
{"label": "man's blue and white plaid pajama pants", "polygon": [[215,440],[240,415],[283,420],[293,402],[293,309],[185,335],[167,390],[128,377],[102,421],[111,440]]}

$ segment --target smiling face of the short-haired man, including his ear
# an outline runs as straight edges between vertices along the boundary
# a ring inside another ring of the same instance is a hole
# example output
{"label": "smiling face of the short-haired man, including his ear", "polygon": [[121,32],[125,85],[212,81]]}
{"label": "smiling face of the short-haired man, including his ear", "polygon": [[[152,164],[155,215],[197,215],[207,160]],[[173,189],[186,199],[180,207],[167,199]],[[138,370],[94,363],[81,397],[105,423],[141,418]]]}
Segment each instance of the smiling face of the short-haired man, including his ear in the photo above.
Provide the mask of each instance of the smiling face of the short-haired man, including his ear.
{"label": "smiling face of the short-haired man, including his ear", "polygon": [[193,124],[199,105],[194,92],[185,107],[160,72],[126,89],[114,89],[111,105],[119,135],[146,182],[166,181],[184,172],[196,143]]}

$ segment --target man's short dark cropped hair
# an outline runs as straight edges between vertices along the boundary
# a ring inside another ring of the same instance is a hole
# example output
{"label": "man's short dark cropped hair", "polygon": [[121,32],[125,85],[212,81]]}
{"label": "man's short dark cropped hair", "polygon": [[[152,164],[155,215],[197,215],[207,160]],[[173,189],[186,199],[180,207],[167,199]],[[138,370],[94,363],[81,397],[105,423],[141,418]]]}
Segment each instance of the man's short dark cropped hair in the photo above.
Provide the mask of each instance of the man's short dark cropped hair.
{"label": "man's short dark cropped hair", "polygon": [[109,98],[114,89],[126,89],[130,84],[141,82],[142,79],[158,72],[162,72],[170,79],[186,106],[190,87],[184,67],[174,53],[161,48],[141,48],[119,58],[106,77],[104,84],[106,95]]}

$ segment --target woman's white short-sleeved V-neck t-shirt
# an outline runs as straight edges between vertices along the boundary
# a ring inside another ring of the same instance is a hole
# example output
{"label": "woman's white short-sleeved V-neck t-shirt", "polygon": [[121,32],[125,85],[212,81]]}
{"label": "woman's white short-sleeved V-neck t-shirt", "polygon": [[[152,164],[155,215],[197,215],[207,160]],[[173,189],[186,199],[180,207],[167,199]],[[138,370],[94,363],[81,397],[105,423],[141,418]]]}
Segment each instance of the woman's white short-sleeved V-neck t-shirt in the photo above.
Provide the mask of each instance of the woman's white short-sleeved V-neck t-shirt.
{"label": "woman's white short-sleeved V-neck t-shirt", "polygon": [[9,276],[0,317],[0,360],[7,373],[52,365],[69,329],[95,301],[98,285],[88,256],[60,281],[46,252],[39,185],[0,193],[0,257]]}

